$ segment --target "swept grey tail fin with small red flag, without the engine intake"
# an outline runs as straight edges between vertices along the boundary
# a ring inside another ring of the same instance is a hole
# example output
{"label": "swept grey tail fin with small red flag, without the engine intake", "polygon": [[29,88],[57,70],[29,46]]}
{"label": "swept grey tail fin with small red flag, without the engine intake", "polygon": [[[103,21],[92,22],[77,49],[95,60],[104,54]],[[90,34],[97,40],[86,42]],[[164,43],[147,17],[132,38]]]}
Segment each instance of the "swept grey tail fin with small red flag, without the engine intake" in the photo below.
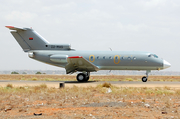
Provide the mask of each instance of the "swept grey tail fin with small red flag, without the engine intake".
{"label": "swept grey tail fin with small red flag, without the engine intake", "polygon": [[11,34],[17,40],[24,52],[29,50],[44,50],[49,44],[41,35],[30,28],[18,28],[13,26],[6,26],[11,31]]}

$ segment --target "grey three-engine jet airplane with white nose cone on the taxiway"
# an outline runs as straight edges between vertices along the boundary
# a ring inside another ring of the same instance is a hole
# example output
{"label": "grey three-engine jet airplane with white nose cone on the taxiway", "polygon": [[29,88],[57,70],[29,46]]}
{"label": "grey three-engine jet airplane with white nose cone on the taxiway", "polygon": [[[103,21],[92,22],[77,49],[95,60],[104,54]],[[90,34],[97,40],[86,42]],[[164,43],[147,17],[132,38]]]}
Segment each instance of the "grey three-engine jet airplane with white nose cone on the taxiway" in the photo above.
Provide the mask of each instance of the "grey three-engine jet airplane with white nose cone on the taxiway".
{"label": "grey three-engine jet airplane with white nose cone on the taxiway", "polygon": [[5,26],[24,52],[34,60],[65,68],[66,74],[81,72],[78,82],[87,82],[90,72],[99,70],[144,70],[148,80],[151,70],[169,68],[171,64],[151,52],[141,51],[76,51],[70,44],[50,44],[32,28]]}

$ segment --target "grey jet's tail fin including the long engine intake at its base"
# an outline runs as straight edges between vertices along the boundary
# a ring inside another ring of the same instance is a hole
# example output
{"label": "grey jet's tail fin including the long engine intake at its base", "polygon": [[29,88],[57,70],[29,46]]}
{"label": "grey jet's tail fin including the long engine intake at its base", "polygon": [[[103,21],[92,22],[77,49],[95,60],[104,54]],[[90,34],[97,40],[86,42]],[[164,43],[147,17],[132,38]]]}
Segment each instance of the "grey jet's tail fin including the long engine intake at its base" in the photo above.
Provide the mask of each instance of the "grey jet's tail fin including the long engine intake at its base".
{"label": "grey jet's tail fin including the long engine intake at its base", "polygon": [[24,52],[30,50],[71,50],[70,44],[49,44],[49,42],[31,28],[6,26]]}

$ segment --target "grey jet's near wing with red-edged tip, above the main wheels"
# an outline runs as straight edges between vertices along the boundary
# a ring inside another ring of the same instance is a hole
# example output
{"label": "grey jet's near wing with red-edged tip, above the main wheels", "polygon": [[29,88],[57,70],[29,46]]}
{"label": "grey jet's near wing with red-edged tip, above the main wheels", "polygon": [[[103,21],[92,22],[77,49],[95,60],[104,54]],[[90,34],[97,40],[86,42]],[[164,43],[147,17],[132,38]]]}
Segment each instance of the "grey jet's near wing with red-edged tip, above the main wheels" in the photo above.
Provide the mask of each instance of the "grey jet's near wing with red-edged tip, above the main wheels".
{"label": "grey jet's near wing with red-edged tip, above the main wheels", "polygon": [[82,56],[68,57],[67,62],[68,64],[65,66],[66,74],[74,73],[76,71],[93,72],[99,70],[97,66],[93,65]]}

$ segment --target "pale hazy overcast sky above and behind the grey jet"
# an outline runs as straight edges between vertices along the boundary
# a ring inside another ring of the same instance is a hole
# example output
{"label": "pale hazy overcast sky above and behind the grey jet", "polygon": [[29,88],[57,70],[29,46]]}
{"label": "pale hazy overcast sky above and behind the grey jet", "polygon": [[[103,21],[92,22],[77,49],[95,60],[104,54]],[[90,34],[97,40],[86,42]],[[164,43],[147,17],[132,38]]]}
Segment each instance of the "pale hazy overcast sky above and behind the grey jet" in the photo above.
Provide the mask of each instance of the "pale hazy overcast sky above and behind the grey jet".
{"label": "pale hazy overcast sky above and behind the grey jet", "polygon": [[0,70],[62,70],[30,59],[7,25],[76,50],[152,52],[180,71],[179,0],[0,0]]}

